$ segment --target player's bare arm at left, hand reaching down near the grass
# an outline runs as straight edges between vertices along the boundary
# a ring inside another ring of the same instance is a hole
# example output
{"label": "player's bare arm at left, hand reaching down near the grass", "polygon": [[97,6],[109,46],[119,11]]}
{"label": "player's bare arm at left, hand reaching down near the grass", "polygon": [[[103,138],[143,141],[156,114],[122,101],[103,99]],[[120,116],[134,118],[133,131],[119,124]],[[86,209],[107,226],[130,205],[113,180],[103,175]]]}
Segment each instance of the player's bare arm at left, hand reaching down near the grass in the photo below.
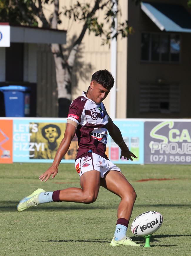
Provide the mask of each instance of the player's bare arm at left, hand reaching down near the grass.
{"label": "player's bare arm at left, hand reaching down near the grass", "polygon": [[56,174],[58,173],[58,165],[60,164],[63,156],[68,151],[75,133],[76,133],[76,127],[70,123],[67,123],[66,131],[64,133],[64,138],[61,141],[60,146],[58,147],[54,161],[51,167],[49,167],[46,172],[44,172],[42,175],[39,176],[39,180],[47,181],[51,175],[52,175],[52,178],[56,176]]}

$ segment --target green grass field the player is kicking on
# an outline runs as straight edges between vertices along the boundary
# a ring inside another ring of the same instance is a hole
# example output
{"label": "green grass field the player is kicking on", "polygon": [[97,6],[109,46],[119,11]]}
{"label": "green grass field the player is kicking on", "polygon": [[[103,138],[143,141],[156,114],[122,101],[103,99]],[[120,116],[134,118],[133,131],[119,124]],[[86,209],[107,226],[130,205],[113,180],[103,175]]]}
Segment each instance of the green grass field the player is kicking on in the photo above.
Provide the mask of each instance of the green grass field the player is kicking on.
{"label": "green grass field the player is kicking on", "polygon": [[[131,221],[144,211],[164,217],[151,237],[151,248],[111,247],[119,198],[100,188],[93,204],[48,203],[17,212],[18,201],[37,188],[46,191],[79,187],[73,164],[61,164],[48,182],[38,176],[49,164],[0,165],[0,255],[191,255],[191,166],[121,165],[135,188]],[[156,179],[138,182],[142,179]],[[167,179],[167,180],[157,180]],[[169,180],[168,180],[169,179]],[[144,245],[128,228],[127,235]]]}

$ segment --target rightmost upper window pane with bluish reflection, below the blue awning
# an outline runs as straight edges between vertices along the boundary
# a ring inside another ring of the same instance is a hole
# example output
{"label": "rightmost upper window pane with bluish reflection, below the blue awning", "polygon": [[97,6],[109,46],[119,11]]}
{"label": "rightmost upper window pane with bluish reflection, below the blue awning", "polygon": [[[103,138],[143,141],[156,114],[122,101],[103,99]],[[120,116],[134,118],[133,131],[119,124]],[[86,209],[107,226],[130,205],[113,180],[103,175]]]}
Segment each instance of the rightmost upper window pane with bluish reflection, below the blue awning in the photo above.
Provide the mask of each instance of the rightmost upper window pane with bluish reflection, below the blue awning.
{"label": "rightmost upper window pane with bluish reflection, below the blue awning", "polygon": [[180,59],[180,36],[171,35],[170,39],[170,55],[171,61],[179,61]]}

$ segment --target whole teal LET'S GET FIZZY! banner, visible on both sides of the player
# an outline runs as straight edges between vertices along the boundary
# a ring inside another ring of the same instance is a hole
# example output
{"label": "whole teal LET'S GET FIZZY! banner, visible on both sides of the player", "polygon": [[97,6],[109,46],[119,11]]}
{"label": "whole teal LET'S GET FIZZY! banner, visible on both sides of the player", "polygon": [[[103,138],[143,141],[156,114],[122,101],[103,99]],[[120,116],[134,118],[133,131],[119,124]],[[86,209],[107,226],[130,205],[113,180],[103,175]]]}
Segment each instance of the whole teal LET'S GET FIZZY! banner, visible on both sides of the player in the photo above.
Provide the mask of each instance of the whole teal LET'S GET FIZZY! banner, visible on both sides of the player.
{"label": "whole teal LET'S GET FIZZY! banner, visible on both sides of the player", "polygon": [[[106,154],[114,163],[143,164],[144,122],[114,120],[130,150],[138,157],[133,161],[120,159],[120,148],[108,136]],[[66,119],[23,118],[13,120],[13,162],[53,162],[58,146],[64,136]],[[78,149],[75,136],[62,163],[73,163]]]}

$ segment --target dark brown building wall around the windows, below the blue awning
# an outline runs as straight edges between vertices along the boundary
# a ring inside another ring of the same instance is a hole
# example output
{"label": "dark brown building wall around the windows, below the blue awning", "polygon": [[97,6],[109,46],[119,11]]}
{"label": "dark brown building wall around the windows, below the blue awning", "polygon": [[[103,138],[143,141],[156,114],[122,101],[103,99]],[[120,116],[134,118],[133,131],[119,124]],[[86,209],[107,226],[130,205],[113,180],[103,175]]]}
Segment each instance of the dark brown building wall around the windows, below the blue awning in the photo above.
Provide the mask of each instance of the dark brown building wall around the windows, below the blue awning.
{"label": "dark brown building wall around the windows, below the blue awning", "polygon": [[[151,2],[151,1],[150,1]],[[159,1],[152,1],[159,2]],[[182,1],[162,1],[165,3],[182,4]],[[180,33],[181,53],[180,63],[143,63],[140,61],[141,32],[161,32],[158,27],[143,13],[140,5],[128,1],[128,20],[135,32],[128,38],[128,89],[127,89],[127,117],[128,118],[189,118],[191,108],[191,34]],[[184,2],[186,3],[186,1]],[[185,5],[186,6],[186,5]],[[164,32],[165,33],[165,32]],[[179,113],[141,113],[139,111],[140,83],[156,83],[162,79],[170,84],[180,85]]]}

